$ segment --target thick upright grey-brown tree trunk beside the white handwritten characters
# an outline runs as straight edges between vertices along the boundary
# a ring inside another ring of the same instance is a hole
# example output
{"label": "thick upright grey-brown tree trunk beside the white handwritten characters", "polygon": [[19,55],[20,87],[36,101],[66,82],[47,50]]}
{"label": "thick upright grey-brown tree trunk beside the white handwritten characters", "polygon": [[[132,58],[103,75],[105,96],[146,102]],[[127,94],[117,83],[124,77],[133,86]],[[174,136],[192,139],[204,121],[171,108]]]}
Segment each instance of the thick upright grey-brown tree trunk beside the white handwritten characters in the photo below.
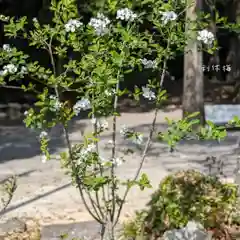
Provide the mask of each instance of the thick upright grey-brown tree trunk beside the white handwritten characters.
{"label": "thick upright grey-brown tree trunk beside the white handwritten characters", "polygon": [[[197,11],[202,9],[202,0],[194,0],[194,4],[187,9],[186,19],[195,21]],[[188,6],[192,0],[187,1]],[[186,33],[191,26],[186,22]],[[199,120],[204,124],[204,83],[202,70],[202,52],[198,50],[196,33],[188,41],[184,55],[184,82],[183,82],[183,117],[187,114],[200,112]]]}

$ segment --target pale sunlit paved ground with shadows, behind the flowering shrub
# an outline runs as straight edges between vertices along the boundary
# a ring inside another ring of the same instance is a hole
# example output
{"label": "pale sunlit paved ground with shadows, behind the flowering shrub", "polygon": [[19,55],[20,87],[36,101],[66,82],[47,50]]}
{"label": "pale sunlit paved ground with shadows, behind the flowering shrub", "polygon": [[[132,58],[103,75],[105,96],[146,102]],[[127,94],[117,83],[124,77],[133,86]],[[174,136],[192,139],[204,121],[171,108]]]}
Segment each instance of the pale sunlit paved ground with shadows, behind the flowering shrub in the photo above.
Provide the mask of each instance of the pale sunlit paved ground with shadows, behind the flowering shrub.
{"label": "pale sunlit paved ground with shadows, behind the flowering shrub", "polygon": [[[157,130],[166,129],[165,117],[170,119],[181,118],[181,110],[159,113]],[[118,129],[122,124],[143,132],[147,136],[153,118],[153,112],[123,113],[118,121]],[[111,124],[111,121],[109,121]],[[72,142],[81,141],[82,131],[90,130],[88,120],[76,120],[71,126]],[[71,224],[76,222],[92,221],[86,212],[77,189],[70,184],[70,179],[60,168],[58,160],[41,163],[39,144],[35,133],[27,130],[23,125],[0,127],[0,181],[11,174],[18,174],[18,188],[13,201],[2,220],[11,217],[34,217],[40,220],[41,225]],[[159,184],[159,181],[169,172],[179,169],[194,168],[206,171],[206,157],[215,156],[223,162],[223,174],[233,177],[238,159],[237,139],[239,132],[229,132],[225,142],[183,142],[176,152],[170,153],[166,144],[153,141],[142,172],[150,177],[153,189],[140,191],[133,189],[128,202],[123,209],[121,219],[131,216],[135,210],[144,207],[149,195]],[[58,154],[64,149],[62,131],[59,128],[51,132],[51,152]],[[101,141],[103,156],[109,154],[105,148],[111,139],[111,132],[106,132]],[[118,150],[129,147],[120,136],[117,137]],[[240,152],[240,151],[239,151]],[[134,176],[140,161],[140,155],[135,152],[126,157],[117,174],[123,178]],[[217,169],[217,166],[213,171]],[[123,190],[121,189],[120,192]],[[45,232],[51,232],[46,230]],[[45,238],[47,239],[47,238]],[[52,238],[55,239],[53,236]]]}

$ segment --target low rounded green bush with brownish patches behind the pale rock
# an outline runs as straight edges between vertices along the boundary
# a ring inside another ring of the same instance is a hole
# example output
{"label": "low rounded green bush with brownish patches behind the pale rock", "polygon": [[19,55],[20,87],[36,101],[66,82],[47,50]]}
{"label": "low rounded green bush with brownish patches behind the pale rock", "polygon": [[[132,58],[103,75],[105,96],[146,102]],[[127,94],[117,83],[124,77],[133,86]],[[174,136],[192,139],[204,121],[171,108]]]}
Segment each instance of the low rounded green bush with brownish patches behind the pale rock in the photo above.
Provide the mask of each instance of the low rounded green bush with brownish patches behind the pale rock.
{"label": "low rounded green bush with brownish patches behind the pale rock", "polygon": [[157,238],[167,230],[186,226],[190,220],[205,228],[217,228],[231,220],[237,193],[235,184],[223,184],[194,170],[179,171],[160,182],[147,209],[126,222],[122,234],[124,238]]}

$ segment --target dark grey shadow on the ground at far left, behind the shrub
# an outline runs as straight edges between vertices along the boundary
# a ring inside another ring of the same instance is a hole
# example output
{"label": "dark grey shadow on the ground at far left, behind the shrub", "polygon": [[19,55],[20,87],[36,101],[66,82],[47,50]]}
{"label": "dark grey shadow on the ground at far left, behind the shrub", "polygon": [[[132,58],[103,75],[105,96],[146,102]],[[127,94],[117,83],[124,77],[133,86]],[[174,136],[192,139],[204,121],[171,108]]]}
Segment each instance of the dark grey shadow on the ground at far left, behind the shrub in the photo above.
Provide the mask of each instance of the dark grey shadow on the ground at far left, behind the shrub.
{"label": "dark grey shadow on the ground at far left, behind the shrub", "polygon": [[[84,123],[72,121],[69,132],[85,128]],[[81,132],[81,131],[79,131]],[[26,129],[24,124],[0,125],[0,163],[16,159],[28,159],[40,155],[39,132]],[[64,148],[65,141],[61,126],[57,126],[50,132],[50,153]]]}

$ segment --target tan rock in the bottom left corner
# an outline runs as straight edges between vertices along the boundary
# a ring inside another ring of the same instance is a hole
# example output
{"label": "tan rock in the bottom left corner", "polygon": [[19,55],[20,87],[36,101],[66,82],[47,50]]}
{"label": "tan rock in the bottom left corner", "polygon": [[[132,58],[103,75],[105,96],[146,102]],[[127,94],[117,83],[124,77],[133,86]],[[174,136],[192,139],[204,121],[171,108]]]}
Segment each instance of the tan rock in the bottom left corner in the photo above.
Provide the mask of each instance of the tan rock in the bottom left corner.
{"label": "tan rock in the bottom left corner", "polygon": [[13,233],[23,233],[27,229],[26,224],[18,218],[12,218],[0,224],[0,237],[6,237]]}

